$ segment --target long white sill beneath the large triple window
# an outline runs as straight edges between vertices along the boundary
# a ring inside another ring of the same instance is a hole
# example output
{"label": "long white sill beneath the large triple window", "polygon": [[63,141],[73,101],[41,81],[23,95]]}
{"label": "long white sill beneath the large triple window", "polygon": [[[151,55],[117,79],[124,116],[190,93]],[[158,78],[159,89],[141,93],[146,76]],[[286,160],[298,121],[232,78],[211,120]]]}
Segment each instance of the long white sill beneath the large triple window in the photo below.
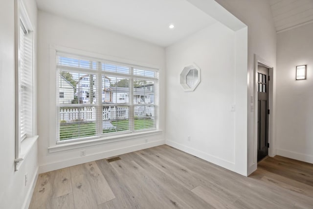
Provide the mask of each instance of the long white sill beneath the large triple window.
{"label": "long white sill beneath the large triple window", "polygon": [[149,131],[149,132],[109,136],[109,137],[98,138],[98,139],[73,141],[73,142],[68,142],[68,143],[57,144],[55,146],[50,146],[48,147],[48,150],[49,150],[49,153],[61,152],[65,150],[76,149],[76,148],[87,147],[87,146],[94,146],[98,144],[105,144],[105,143],[111,143],[111,142],[116,142],[116,141],[135,139],[138,137],[148,137],[148,136],[158,135],[161,133],[162,133],[162,130],[154,130],[154,131]]}

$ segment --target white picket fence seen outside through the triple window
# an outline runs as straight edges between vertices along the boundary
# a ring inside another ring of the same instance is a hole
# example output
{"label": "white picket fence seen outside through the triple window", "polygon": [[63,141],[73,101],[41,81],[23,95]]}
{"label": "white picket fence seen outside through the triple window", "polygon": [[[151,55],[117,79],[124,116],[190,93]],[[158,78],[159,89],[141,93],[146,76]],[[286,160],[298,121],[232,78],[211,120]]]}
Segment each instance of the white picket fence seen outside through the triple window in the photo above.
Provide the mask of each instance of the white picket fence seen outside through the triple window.
{"label": "white picket fence seen outside through the triple window", "polygon": [[[146,116],[154,117],[154,106],[135,106],[134,116],[137,118],[143,118]],[[102,119],[114,120],[114,119],[128,119],[129,108],[128,107],[103,107]],[[84,108],[63,108],[60,110],[60,121],[94,121],[96,120],[96,108],[84,107]]]}

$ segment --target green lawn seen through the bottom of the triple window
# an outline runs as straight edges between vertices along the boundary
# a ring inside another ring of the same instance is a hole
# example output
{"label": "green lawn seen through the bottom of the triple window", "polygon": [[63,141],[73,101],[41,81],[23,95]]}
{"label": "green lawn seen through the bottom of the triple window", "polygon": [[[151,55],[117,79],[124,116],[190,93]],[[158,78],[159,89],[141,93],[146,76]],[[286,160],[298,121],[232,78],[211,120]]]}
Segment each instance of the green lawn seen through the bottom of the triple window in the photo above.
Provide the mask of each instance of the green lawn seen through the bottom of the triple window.
{"label": "green lawn seen through the bottom of the triple window", "polygon": [[[117,120],[111,122],[115,128],[113,129],[103,129],[103,133],[114,133],[120,131],[129,130],[129,120]],[[143,130],[154,128],[154,120],[147,119],[135,119],[134,120],[134,130]],[[95,136],[95,122],[84,122],[76,124],[60,124],[60,139],[75,139],[81,137]]]}

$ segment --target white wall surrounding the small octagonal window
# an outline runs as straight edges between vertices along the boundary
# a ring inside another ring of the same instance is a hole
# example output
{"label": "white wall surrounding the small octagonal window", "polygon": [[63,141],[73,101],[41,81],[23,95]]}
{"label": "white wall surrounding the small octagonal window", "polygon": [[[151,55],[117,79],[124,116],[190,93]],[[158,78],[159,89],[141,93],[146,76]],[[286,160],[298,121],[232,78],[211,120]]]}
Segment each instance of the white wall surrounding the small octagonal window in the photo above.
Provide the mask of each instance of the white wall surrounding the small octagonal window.
{"label": "white wall surrounding the small octagonal window", "polygon": [[[195,63],[201,83],[194,92],[179,84]],[[235,32],[215,23],[166,48],[166,143],[235,170]],[[190,141],[188,141],[190,136]]]}

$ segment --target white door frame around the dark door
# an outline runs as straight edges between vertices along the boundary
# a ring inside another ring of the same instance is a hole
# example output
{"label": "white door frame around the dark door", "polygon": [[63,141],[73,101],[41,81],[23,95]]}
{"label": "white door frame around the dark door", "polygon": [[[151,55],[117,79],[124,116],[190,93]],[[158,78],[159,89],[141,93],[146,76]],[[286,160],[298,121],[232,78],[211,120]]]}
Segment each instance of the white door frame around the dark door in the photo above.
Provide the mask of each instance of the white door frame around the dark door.
{"label": "white door frame around the dark door", "polygon": [[268,62],[262,59],[260,56],[254,54],[254,66],[253,66],[253,100],[254,100],[254,134],[253,134],[253,147],[254,147],[254,161],[253,163],[257,163],[257,150],[258,150],[258,89],[257,89],[257,73],[258,73],[258,65],[261,65],[265,68],[268,68],[268,73],[270,76],[269,80],[269,91],[268,91],[268,156],[274,157],[274,140],[273,140],[273,67],[268,65]]}

